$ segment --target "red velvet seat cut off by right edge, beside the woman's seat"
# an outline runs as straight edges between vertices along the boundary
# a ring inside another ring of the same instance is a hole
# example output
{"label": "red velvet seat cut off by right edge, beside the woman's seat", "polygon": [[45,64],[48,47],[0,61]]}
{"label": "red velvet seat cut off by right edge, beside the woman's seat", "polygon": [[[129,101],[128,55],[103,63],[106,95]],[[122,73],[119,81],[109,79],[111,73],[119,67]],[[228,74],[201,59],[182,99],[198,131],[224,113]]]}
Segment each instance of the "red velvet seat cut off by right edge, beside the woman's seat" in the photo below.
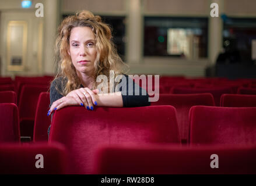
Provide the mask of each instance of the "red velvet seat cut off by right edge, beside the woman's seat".
{"label": "red velvet seat cut off by right edge, beside the woman's seat", "polygon": [[192,106],[191,144],[255,144],[256,108]]}

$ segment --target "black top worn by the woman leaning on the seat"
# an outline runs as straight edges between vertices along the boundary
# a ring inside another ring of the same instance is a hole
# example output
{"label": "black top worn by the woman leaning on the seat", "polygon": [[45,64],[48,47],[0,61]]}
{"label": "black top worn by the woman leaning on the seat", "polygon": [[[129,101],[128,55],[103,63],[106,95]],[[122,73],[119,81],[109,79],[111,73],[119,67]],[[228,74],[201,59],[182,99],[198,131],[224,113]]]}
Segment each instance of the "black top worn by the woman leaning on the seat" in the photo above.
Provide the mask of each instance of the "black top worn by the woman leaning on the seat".
{"label": "black top worn by the woman leaning on the seat", "polygon": [[[124,77],[126,78],[124,80]],[[125,82],[126,81],[126,82]],[[63,97],[61,90],[64,90],[66,79],[58,77],[51,83],[50,88],[50,106],[57,99]],[[117,84],[117,91],[121,91],[122,102],[124,107],[149,106],[149,95],[143,88],[135,84],[127,75],[124,75],[120,83]],[[83,85],[81,85],[83,87]],[[56,89],[57,88],[57,89]]]}

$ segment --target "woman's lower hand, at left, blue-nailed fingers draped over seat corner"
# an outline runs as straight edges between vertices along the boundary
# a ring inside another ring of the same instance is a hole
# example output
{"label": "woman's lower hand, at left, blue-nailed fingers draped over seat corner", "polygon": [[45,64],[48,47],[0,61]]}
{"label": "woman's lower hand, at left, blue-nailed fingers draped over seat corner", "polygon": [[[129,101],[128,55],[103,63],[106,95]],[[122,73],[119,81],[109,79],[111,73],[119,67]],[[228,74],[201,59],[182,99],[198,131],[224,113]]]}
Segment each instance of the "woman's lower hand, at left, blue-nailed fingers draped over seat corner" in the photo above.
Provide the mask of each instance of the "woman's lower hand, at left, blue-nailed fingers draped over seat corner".
{"label": "woman's lower hand, at left, blue-nailed fingers draped over seat corner", "polygon": [[78,103],[76,102],[75,98],[73,98],[73,97],[64,96],[61,99],[58,99],[52,103],[47,116],[50,116],[51,113],[54,112],[55,110],[59,110],[61,108],[64,108],[65,106],[69,106],[69,105],[78,105]]}

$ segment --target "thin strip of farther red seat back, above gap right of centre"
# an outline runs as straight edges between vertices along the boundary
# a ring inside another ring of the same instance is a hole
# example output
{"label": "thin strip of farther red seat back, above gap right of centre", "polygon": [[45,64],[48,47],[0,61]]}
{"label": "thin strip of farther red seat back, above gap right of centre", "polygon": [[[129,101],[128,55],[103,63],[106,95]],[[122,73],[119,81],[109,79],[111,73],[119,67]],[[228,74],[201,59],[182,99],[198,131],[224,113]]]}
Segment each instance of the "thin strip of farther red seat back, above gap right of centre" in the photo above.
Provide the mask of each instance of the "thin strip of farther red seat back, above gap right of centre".
{"label": "thin strip of farther red seat back, above gap right of centre", "polygon": [[220,105],[220,96],[222,94],[231,94],[232,87],[212,87],[212,88],[182,88],[173,87],[172,94],[195,94],[195,93],[211,93],[213,95],[215,105]]}

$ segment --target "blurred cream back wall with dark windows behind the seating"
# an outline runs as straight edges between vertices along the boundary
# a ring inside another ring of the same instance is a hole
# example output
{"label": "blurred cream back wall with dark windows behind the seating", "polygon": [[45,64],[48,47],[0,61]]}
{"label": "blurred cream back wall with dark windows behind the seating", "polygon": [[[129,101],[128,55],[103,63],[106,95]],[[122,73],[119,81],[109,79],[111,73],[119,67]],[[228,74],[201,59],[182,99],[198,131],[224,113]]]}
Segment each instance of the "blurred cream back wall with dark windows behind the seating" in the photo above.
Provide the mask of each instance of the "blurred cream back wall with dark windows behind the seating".
{"label": "blurred cream back wall with dark windows behind the seating", "polygon": [[[219,17],[210,15],[214,2]],[[35,15],[37,3],[43,17]],[[204,77],[224,49],[237,51],[237,62],[253,64],[255,7],[255,0],[33,0],[22,8],[20,0],[0,0],[0,75],[54,74],[57,27],[82,9],[113,27],[129,74]]]}

